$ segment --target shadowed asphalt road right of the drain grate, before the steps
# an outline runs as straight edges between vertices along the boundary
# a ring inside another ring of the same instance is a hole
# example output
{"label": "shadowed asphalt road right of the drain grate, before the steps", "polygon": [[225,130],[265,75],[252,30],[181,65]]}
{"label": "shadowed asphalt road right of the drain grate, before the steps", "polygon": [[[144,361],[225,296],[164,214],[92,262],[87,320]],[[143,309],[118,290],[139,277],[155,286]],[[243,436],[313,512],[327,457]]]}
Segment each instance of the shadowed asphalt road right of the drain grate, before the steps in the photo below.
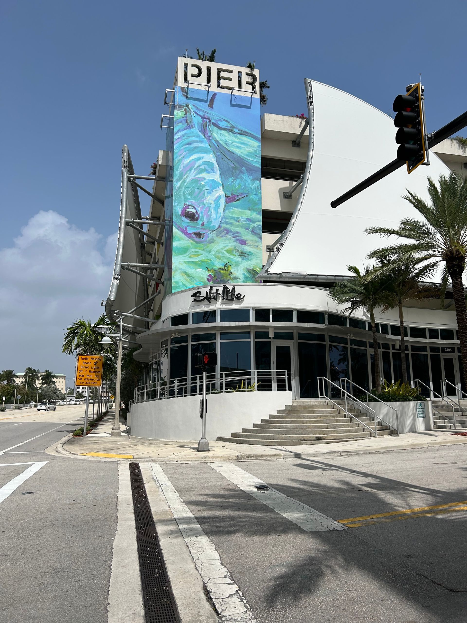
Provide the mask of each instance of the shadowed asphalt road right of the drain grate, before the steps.
{"label": "shadowed asphalt road right of the drain grate, before the steps", "polygon": [[[465,502],[466,459],[463,445],[235,465],[343,520]],[[467,621],[466,510],[306,532],[208,464],[161,467],[259,623]]]}

